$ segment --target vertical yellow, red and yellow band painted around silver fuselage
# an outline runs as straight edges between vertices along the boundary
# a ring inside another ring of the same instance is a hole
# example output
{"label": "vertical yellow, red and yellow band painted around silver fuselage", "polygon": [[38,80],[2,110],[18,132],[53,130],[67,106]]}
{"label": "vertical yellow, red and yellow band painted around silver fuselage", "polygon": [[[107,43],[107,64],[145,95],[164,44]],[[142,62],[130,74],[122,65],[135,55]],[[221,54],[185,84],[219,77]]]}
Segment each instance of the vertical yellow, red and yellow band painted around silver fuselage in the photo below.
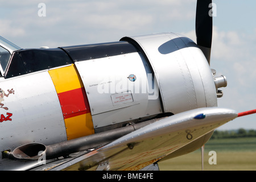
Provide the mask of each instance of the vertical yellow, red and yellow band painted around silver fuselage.
{"label": "vertical yellow, red and yellow band painted around silver fuselage", "polygon": [[48,72],[59,97],[67,139],[94,134],[88,98],[75,65]]}

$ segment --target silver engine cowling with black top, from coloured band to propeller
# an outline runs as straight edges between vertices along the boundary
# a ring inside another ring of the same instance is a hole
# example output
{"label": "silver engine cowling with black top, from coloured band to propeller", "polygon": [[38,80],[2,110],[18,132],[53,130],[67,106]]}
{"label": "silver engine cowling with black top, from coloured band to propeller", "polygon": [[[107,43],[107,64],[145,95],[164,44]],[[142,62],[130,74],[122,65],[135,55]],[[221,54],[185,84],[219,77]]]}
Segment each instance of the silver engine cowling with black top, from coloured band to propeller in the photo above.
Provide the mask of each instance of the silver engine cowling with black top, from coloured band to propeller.
{"label": "silver engine cowling with black top, from coloured band to propeller", "polygon": [[96,133],[160,113],[217,106],[209,64],[184,36],[151,34],[62,49],[79,71]]}

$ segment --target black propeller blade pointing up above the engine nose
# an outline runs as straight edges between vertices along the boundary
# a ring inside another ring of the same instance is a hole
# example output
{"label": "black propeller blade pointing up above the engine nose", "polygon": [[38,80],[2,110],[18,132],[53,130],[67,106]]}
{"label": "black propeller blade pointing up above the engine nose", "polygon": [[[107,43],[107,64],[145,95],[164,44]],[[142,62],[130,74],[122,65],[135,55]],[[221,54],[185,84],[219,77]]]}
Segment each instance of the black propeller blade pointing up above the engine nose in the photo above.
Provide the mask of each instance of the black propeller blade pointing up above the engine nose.
{"label": "black propeller blade pointing up above the engine nose", "polygon": [[212,0],[197,0],[196,4],[196,41],[210,64],[212,48]]}

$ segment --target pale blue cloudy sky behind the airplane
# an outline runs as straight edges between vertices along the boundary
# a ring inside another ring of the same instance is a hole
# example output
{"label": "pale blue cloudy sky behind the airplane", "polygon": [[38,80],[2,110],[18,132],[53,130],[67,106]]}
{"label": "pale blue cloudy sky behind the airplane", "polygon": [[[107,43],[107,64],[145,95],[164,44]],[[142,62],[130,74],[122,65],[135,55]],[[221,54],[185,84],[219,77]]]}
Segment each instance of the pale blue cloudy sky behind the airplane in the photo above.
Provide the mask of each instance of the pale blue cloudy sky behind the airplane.
{"label": "pale blue cloudy sky behind the airplane", "polygon": [[[42,4],[43,3],[43,4]],[[210,68],[228,86],[218,106],[256,109],[255,0],[213,0]],[[196,42],[196,0],[0,0],[0,35],[21,48],[116,42],[124,36],[175,32]],[[256,114],[218,130],[256,130]]]}

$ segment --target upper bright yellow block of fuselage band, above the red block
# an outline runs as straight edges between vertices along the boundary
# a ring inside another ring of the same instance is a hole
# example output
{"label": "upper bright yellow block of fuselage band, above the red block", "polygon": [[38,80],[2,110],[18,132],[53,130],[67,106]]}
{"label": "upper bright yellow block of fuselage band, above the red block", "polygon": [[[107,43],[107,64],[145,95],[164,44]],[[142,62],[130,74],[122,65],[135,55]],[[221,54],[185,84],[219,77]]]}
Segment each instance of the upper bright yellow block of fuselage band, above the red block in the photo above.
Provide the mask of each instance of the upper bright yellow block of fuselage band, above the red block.
{"label": "upper bright yellow block of fuselage band, above the red block", "polygon": [[79,73],[73,64],[68,67],[52,69],[48,72],[52,77],[57,93],[84,87]]}

